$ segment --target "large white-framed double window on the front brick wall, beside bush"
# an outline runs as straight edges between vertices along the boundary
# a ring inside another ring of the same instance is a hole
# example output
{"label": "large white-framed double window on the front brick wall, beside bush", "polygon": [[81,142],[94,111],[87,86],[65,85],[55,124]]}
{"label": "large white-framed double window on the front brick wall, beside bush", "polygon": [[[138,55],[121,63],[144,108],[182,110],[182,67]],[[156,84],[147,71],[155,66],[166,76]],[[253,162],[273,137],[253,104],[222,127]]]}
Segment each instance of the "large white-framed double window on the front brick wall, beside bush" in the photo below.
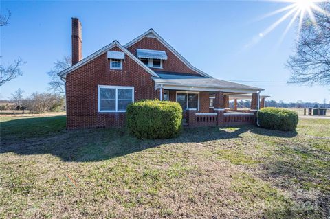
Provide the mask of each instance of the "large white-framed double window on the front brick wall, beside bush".
{"label": "large white-framed double window on the front brick wall, beside bush", "polygon": [[134,102],[134,87],[98,86],[99,112],[125,112],[131,102]]}

